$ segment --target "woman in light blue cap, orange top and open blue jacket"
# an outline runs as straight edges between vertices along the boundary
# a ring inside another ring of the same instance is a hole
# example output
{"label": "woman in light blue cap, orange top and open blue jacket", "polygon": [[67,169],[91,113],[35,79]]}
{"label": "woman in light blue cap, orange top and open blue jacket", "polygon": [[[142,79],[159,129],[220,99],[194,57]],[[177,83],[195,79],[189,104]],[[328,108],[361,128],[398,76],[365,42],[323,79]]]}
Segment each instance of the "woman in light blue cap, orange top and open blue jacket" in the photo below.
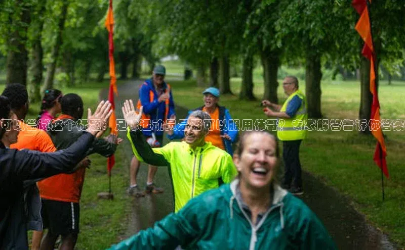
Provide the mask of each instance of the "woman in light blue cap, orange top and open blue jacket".
{"label": "woman in light blue cap, orange top and open blue jacket", "polygon": [[[220,95],[218,88],[207,88],[204,90],[203,94],[204,106],[201,106],[195,110],[207,112],[212,119],[211,129],[206,136],[206,141],[211,142],[214,146],[225,150],[229,155],[232,156],[232,143],[236,141],[238,133],[237,126],[233,122],[229,111],[225,107],[218,105]],[[190,111],[188,115],[195,110]],[[166,129],[169,139],[181,139],[184,137],[184,128],[187,123],[187,118],[176,124],[174,127],[167,125]]]}

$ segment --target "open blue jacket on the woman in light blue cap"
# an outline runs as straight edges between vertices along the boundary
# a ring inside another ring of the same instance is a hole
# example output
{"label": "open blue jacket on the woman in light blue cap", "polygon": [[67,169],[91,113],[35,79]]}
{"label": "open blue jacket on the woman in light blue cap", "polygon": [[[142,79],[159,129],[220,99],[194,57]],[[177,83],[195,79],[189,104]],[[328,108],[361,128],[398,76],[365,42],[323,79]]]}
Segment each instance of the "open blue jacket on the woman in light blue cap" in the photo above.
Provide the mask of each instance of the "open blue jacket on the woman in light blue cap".
{"label": "open blue jacket on the woman in light blue cap", "polygon": [[[195,110],[203,110],[203,107],[199,107]],[[219,120],[222,121],[223,124],[222,126],[220,126],[221,135],[228,134],[231,137],[231,140],[222,138],[222,142],[225,146],[225,151],[232,156],[233,154],[232,143],[236,141],[238,129],[236,124],[233,122],[231,115],[229,114],[229,111],[222,106],[218,106],[218,108],[219,108]],[[169,139],[171,140],[181,139],[184,137],[184,128],[187,124],[187,119],[190,116],[190,114],[195,110],[189,111],[186,119],[180,120],[180,123],[176,124],[176,126],[173,128],[174,133],[172,135],[168,135]]]}

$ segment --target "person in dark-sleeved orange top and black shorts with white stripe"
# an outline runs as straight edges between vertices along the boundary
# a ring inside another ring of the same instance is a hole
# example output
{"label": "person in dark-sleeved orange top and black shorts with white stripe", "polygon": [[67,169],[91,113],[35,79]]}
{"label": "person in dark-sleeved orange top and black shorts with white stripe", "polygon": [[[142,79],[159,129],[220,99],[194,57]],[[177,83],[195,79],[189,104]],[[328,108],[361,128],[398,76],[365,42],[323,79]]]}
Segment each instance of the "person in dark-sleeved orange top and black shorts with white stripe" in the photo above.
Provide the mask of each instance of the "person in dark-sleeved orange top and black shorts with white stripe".
{"label": "person in dark-sleeved orange top and black shorts with white stripe", "polygon": [[[82,98],[68,93],[61,99],[61,108],[62,114],[47,129],[58,150],[69,147],[84,133],[84,127],[79,121],[83,116]],[[86,155],[97,153],[109,157],[121,141],[111,136],[106,139],[95,138]],[[79,201],[85,174],[86,168],[79,168],[72,174],[58,174],[38,182],[44,228],[48,228],[41,249],[54,249],[59,235],[62,237],[61,249],[74,249],[79,233]]]}

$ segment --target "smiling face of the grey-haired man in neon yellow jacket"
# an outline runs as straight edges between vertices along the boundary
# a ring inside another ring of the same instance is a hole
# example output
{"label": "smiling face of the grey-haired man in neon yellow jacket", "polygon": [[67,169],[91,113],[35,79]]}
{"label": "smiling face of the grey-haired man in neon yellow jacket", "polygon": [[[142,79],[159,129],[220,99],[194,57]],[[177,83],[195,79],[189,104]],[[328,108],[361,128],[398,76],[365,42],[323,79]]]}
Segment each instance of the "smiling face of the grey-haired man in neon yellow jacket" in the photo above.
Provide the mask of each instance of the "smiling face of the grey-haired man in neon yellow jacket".
{"label": "smiling face of the grey-haired man in neon yellow jacket", "polygon": [[203,120],[189,116],[187,125],[184,128],[184,140],[191,147],[200,146],[204,144],[206,135],[207,131],[204,129]]}

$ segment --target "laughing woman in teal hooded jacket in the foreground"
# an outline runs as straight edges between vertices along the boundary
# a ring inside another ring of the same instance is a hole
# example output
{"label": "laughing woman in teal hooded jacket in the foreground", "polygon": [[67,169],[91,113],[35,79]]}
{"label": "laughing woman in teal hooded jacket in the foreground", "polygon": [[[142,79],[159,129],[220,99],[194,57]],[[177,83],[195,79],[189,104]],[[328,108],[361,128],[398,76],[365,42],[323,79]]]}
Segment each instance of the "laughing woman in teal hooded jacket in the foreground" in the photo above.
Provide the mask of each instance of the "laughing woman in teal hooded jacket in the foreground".
{"label": "laughing woman in teal hooded jacket in the foreground", "polygon": [[274,136],[246,132],[237,179],[110,249],[336,249],[316,215],[275,181],[278,154]]}

